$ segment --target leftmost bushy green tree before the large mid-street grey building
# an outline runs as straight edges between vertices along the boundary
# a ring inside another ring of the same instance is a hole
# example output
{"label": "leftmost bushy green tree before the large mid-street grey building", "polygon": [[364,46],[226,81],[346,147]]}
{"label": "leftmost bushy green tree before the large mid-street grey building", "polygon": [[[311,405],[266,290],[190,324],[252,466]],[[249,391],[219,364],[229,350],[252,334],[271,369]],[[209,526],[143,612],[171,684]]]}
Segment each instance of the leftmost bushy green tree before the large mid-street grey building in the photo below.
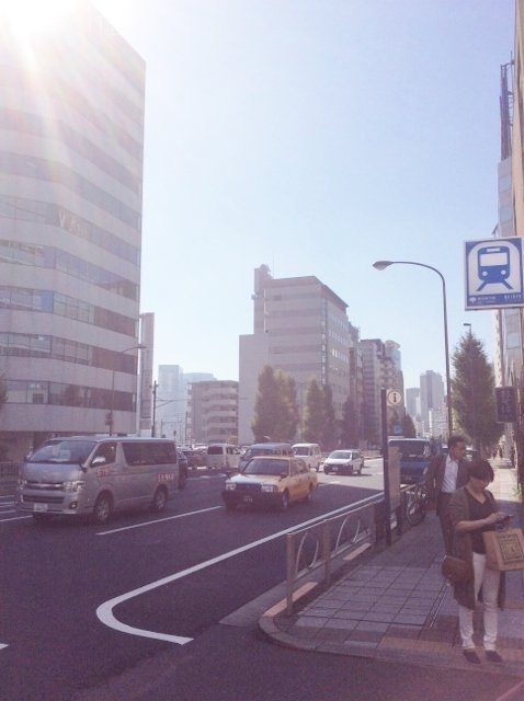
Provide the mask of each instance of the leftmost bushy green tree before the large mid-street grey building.
{"label": "leftmost bushy green tree before the large mid-street grey building", "polygon": [[298,426],[295,380],[266,365],[259,375],[251,429],[257,441],[293,440]]}

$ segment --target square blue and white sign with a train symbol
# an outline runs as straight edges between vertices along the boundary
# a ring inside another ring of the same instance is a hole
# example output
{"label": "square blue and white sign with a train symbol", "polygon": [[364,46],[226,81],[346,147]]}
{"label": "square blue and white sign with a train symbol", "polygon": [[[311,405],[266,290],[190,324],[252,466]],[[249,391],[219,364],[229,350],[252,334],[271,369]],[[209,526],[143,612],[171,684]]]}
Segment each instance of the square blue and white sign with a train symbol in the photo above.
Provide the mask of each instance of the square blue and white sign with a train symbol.
{"label": "square blue and white sign with a train symbol", "polygon": [[524,307],[522,239],[466,241],[466,309]]}

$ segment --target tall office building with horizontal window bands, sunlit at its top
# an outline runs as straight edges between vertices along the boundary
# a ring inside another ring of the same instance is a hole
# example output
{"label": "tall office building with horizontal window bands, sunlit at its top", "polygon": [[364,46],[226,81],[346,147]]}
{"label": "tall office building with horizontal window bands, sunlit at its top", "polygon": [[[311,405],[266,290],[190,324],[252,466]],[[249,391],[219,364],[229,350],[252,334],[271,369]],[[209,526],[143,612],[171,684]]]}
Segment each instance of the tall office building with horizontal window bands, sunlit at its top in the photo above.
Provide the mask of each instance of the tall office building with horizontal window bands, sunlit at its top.
{"label": "tall office building with horizontal window bands, sunlit at its top", "polygon": [[0,26],[0,443],[136,430],[145,64],[91,5]]}

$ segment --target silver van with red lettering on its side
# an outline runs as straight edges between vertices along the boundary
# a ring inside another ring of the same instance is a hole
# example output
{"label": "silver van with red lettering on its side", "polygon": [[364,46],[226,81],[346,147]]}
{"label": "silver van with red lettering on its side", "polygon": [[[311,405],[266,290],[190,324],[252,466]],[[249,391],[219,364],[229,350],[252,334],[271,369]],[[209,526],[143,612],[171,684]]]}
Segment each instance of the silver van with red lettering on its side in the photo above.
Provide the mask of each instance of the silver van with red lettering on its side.
{"label": "silver van with red lettering on its side", "polygon": [[160,512],[178,487],[172,440],[76,436],[53,438],[25,460],[15,503],[36,521],[88,514],[105,524],[119,509]]}

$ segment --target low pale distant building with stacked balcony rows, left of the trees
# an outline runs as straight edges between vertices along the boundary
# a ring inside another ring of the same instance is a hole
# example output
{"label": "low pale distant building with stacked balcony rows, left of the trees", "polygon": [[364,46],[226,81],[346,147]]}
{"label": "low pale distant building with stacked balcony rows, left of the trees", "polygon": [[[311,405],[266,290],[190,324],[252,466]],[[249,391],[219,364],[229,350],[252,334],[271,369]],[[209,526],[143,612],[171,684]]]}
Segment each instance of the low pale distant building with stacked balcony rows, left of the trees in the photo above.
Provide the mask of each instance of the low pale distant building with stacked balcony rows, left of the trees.
{"label": "low pale distant building with stacked balcony rows, left of the trees", "polygon": [[238,443],[238,382],[214,380],[190,384],[192,443]]}

